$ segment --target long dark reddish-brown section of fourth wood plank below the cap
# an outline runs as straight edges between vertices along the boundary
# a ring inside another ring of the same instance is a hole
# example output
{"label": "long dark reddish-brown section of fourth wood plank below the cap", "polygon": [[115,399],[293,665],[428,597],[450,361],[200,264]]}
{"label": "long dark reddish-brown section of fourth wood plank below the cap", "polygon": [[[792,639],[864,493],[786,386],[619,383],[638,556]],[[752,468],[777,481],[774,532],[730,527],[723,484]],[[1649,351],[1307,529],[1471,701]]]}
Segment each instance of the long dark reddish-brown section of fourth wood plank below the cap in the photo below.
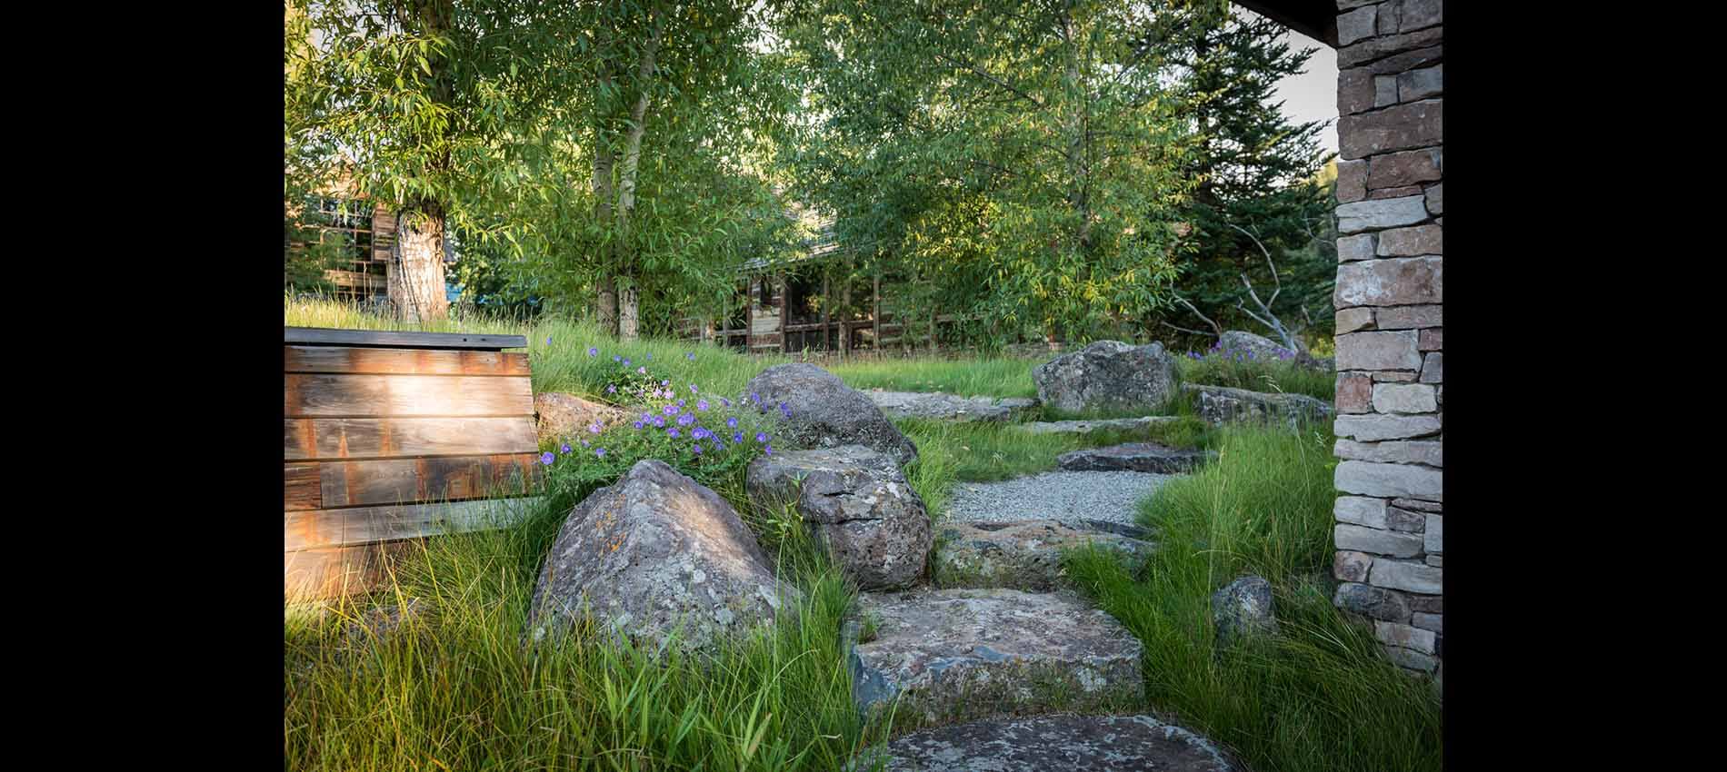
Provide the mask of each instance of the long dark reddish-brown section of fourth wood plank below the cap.
{"label": "long dark reddish-brown section of fourth wood plank below the cap", "polygon": [[520,496],[523,482],[539,485],[542,468],[532,452],[330,461],[321,470],[321,508]]}

